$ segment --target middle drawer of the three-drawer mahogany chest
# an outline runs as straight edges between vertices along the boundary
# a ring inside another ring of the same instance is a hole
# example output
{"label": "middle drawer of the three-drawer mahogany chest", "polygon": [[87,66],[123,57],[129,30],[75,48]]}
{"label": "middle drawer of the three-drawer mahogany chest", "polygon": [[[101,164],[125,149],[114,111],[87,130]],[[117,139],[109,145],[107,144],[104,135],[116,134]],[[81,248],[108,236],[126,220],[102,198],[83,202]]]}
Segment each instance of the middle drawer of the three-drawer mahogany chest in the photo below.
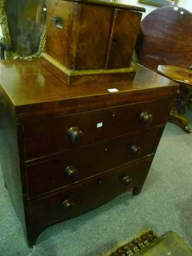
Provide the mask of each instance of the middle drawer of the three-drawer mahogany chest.
{"label": "middle drawer of the three-drawer mahogany chest", "polygon": [[121,136],[57,154],[51,160],[26,167],[28,198],[69,186],[106,170],[152,154],[161,130]]}

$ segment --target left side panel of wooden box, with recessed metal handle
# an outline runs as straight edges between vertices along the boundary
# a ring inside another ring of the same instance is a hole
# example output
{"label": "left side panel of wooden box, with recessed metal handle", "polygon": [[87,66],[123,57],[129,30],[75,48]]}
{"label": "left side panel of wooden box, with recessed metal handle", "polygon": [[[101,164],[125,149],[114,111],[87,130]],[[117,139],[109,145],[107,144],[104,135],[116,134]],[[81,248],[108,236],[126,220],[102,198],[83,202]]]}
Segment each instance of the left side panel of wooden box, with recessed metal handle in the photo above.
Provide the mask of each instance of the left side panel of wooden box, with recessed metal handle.
{"label": "left side panel of wooden box, with recessed metal handle", "polygon": [[67,68],[70,68],[73,8],[73,2],[49,0],[46,19],[46,52]]}

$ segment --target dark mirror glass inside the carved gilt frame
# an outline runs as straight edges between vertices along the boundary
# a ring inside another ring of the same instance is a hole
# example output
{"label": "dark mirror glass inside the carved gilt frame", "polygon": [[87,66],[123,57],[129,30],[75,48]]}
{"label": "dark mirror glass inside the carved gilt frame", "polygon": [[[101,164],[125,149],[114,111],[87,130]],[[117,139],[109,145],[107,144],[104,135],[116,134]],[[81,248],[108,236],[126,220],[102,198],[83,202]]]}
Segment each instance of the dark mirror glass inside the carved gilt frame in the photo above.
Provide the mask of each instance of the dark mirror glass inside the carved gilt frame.
{"label": "dark mirror glass inside the carved gilt frame", "polygon": [[21,57],[39,51],[46,22],[46,0],[6,0],[13,52]]}

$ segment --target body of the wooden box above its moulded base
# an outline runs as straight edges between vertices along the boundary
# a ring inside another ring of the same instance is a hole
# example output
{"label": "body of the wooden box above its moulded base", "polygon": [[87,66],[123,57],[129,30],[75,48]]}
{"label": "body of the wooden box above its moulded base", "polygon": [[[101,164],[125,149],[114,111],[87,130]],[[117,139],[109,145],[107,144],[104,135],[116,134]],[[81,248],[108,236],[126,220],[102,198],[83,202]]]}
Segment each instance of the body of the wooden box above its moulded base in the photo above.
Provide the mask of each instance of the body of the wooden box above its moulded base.
{"label": "body of the wooden box above its moulded base", "polygon": [[108,3],[48,0],[46,53],[69,70],[128,68],[142,14]]}

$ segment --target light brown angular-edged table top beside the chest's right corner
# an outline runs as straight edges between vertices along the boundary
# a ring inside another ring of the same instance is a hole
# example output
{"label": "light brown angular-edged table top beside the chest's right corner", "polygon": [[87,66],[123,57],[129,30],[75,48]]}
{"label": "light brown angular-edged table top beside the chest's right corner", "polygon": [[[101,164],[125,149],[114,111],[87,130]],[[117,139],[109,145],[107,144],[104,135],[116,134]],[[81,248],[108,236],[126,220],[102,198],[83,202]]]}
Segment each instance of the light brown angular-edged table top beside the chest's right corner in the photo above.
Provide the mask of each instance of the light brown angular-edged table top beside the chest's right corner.
{"label": "light brown angular-edged table top beside the chest's right corner", "polygon": [[177,66],[159,65],[157,71],[176,82],[192,86],[192,70]]}

